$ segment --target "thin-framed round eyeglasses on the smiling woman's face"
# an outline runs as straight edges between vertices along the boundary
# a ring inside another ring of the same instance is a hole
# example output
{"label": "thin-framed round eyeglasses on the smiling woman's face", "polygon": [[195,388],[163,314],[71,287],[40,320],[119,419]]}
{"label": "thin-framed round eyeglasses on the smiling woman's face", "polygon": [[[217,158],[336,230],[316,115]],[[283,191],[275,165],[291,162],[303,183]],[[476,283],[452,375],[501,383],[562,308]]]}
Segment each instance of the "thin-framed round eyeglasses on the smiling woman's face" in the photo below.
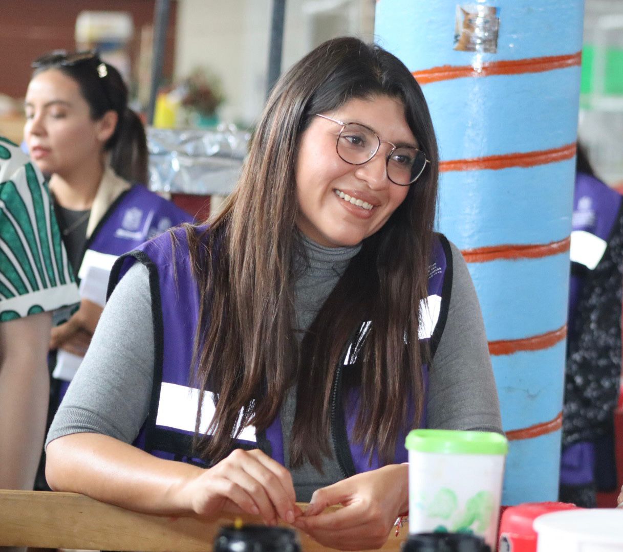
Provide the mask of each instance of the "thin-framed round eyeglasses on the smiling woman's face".
{"label": "thin-framed round eyeglasses on the smiling woman's face", "polygon": [[344,123],[326,115],[315,114],[336,124],[341,124],[336,141],[336,151],[343,161],[351,165],[363,165],[379,151],[382,143],[389,144],[391,150],[386,157],[388,179],[399,186],[413,184],[430,163],[424,152],[412,146],[396,146],[387,140],[381,140],[373,129],[361,123]]}

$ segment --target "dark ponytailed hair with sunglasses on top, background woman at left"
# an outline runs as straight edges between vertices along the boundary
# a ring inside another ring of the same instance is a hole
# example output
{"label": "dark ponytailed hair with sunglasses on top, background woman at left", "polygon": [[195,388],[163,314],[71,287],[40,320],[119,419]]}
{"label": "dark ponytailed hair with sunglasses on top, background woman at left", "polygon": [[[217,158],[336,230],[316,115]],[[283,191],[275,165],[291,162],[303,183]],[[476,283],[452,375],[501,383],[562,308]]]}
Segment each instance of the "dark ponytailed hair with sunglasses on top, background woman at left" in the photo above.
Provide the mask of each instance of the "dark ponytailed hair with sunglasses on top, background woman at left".
{"label": "dark ponytailed hair with sunglasses on top, background woman at left", "polygon": [[141,119],[128,108],[128,87],[115,67],[103,62],[97,52],[54,50],[32,62],[33,77],[57,69],[78,83],[87,101],[91,118],[100,119],[107,111],[117,113],[115,132],[105,149],[110,152],[113,170],[128,182],[146,185],[147,141]]}

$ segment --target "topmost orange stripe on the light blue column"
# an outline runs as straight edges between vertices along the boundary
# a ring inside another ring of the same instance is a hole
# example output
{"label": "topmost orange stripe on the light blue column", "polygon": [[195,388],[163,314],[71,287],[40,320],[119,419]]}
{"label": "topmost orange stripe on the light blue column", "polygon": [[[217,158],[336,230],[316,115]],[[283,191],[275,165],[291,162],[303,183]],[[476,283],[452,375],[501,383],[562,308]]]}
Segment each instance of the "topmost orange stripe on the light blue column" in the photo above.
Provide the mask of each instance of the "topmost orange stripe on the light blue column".
{"label": "topmost orange stripe on the light blue column", "polygon": [[568,55],[548,55],[500,62],[485,62],[482,65],[441,65],[412,74],[417,82],[425,85],[431,82],[465,77],[490,77],[491,75],[520,75],[521,73],[543,73],[554,69],[574,67],[582,62],[582,52]]}

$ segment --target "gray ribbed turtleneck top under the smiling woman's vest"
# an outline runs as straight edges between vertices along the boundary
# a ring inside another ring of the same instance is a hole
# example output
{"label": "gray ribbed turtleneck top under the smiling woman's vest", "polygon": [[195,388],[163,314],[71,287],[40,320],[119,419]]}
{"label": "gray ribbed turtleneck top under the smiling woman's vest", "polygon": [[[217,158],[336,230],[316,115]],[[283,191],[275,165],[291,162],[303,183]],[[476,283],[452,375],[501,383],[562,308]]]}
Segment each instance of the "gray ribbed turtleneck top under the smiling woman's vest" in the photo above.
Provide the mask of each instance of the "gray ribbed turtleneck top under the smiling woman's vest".
{"label": "gray ribbed turtleneck top under the smiling woman's vest", "polygon": [[[358,248],[324,248],[305,240],[308,263],[295,265],[295,311],[304,332]],[[429,373],[430,428],[502,431],[497,391],[482,314],[467,265],[451,244],[454,274],[449,312]],[[128,328],[132,331],[128,332]],[[136,263],[121,279],[97,325],[80,370],[69,386],[47,444],[71,433],[92,432],[132,442],[146,419],[153,385],[153,324],[148,271]],[[282,407],[284,442],[292,428],[295,393]],[[287,448],[287,447],[286,447]],[[285,451],[287,455],[287,451]],[[288,461],[288,456],[286,456]],[[303,465],[293,471],[298,500],[341,474],[335,460],[322,476]]]}

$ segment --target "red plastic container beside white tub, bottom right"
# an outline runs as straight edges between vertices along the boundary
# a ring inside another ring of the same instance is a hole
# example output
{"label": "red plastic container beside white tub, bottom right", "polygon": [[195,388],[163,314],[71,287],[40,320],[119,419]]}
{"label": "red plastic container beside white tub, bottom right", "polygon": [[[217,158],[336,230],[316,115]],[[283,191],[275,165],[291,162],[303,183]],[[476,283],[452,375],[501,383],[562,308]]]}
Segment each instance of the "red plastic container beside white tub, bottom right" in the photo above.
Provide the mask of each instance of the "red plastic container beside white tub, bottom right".
{"label": "red plastic container beside white tub, bottom right", "polygon": [[577,509],[564,502],[528,502],[506,508],[500,522],[498,552],[536,552],[535,519],[545,513]]}

